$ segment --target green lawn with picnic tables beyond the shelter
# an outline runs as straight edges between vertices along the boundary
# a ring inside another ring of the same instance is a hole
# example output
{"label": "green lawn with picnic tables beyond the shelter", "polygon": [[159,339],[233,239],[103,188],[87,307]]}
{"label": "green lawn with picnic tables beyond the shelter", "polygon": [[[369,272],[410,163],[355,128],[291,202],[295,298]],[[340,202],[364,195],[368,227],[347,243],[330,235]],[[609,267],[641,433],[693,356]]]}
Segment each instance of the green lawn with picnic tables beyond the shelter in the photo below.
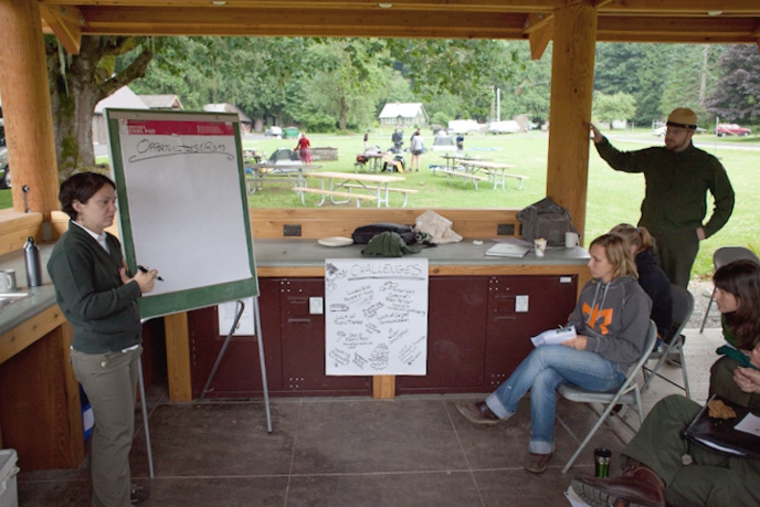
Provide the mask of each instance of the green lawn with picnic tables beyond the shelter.
{"label": "green lawn with picnic tables beyond the shelter", "polygon": [[[407,133],[411,134],[411,130]],[[610,134],[612,142],[623,150],[635,150],[647,146],[663,144],[661,138],[651,135],[650,130],[635,133],[615,131]],[[618,138],[631,139],[616,140]],[[428,149],[432,147],[432,136],[423,136]],[[363,151],[361,136],[310,135],[313,147],[338,148],[337,161],[315,162],[321,165],[320,170],[353,172],[356,155]],[[408,145],[408,140],[405,142]],[[712,270],[712,252],[722,245],[760,246],[760,215],[758,215],[757,200],[760,197],[760,180],[754,171],[760,167],[760,137],[747,139],[719,139],[701,135],[695,141],[703,149],[716,155],[726,167],[731,183],[737,193],[737,204],[728,224],[715,236],[703,242],[694,273],[706,276]],[[390,131],[379,135],[371,134],[370,142],[378,144],[382,149],[391,146]],[[244,148],[258,148],[266,154],[279,147],[293,148],[293,139],[255,139],[244,140]],[[420,192],[411,194],[409,205],[413,208],[524,208],[546,194],[548,135],[539,131],[509,136],[467,136],[465,152],[469,156],[507,162],[517,166],[517,175],[528,176],[522,190],[516,190],[517,180],[508,179],[507,190],[490,190],[487,184],[481,184],[475,191],[471,183],[446,184],[445,178],[434,177],[430,165],[442,165],[442,152],[428,151],[421,157],[421,171],[403,175],[407,179],[394,186],[418,189]],[[748,149],[728,149],[726,146],[746,146]],[[717,147],[717,148],[716,148]],[[752,150],[751,148],[754,148]],[[453,155],[453,154],[452,154]],[[411,157],[405,154],[407,165]],[[104,161],[98,159],[99,161]],[[107,161],[107,160],[106,160]],[[289,181],[288,181],[289,183]],[[251,208],[297,208],[300,198],[291,190],[292,184],[285,182],[265,182],[264,190],[256,192],[249,199]],[[485,183],[485,182],[484,182]],[[309,181],[309,187],[318,187],[316,181]],[[640,205],[644,196],[644,178],[641,175],[626,175],[613,171],[599,158],[591,148],[589,162],[589,194],[587,210],[587,237],[610,230],[621,222],[636,223],[640,216]],[[316,196],[308,196],[307,203],[316,202]],[[401,205],[402,197],[391,200],[391,205]],[[752,203],[756,204],[752,204]],[[11,207],[10,191],[0,191],[0,208]],[[709,207],[711,209],[711,205]],[[709,212],[708,212],[709,214]],[[587,243],[588,244],[588,243]]]}

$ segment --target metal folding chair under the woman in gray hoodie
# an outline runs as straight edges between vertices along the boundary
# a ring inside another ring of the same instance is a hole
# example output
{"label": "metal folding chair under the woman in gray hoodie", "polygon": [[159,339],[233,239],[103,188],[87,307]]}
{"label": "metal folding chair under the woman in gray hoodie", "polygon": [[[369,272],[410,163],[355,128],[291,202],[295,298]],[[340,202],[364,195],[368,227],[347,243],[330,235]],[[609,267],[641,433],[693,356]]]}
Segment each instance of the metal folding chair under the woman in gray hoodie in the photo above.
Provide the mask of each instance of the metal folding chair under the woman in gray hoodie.
{"label": "metal folding chair under the woman in gray hoodie", "polygon": [[568,473],[576,458],[580,455],[581,451],[583,451],[585,445],[591,441],[593,435],[597,433],[597,430],[599,430],[599,427],[602,425],[602,423],[604,423],[604,421],[608,420],[608,418],[611,418],[612,415],[618,415],[619,419],[626,426],[629,426],[634,432],[636,431],[618,413],[612,413],[612,410],[616,404],[625,404],[629,406],[635,404],[636,410],[638,411],[638,420],[641,423],[644,422],[644,411],[641,404],[641,392],[638,391],[638,384],[636,383],[635,379],[636,374],[644,366],[644,362],[646,362],[646,360],[648,359],[650,353],[652,353],[652,350],[654,349],[656,342],[657,327],[654,325],[652,320],[650,320],[650,328],[648,332],[646,334],[646,345],[644,347],[644,352],[642,353],[642,357],[638,359],[638,361],[636,361],[636,363],[630,368],[629,374],[625,377],[623,383],[614,391],[587,391],[585,389],[579,388],[578,385],[572,383],[563,383],[557,389],[557,391],[562,395],[562,398],[564,398],[568,401],[573,401],[577,403],[602,403],[606,405],[602,414],[599,416],[599,421],[597,421],[589,434],[585,435],[583,442],[581,442],[578,439],[578,436],[576,436],[576,434],[570,430],[570,427],[568,427],[568,425],[564,423],[564,421],[562,421],[561,418],[557,416],[557,421],[559,421],[559,423],[568,431],[568,433],[570,433],[570,435],[572,435],[572,437],[576,439],[576,441],[580,442],[580,445],[578,446],[573,455],[570,457],[570,461],[568,461],[568,464],[564,465],[564,468],[562,468],[562,474]]}

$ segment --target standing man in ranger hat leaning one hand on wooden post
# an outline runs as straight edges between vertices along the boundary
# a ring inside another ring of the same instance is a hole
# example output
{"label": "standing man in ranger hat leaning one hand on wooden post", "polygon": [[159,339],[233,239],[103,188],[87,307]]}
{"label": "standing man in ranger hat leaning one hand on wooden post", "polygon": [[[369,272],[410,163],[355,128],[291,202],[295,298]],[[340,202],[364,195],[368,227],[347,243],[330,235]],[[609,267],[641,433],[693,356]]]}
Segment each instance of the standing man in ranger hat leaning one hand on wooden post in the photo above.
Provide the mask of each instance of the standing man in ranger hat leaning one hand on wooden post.
{"label": "standing man in ranger hat leaning one hand on wooden post", "polygon": [[[589,124],[599,156],[616,171],[643,172],[646,193],[638,225],[656,242],[659,266],[671,283],[687,288],[699,242],[726,225],[733,211],[733,189],[714,156],[695,148],[697,115],[678,108],[667,118],[665,146],[620,151]],[[715,208],[707,223],[707,192]]]}

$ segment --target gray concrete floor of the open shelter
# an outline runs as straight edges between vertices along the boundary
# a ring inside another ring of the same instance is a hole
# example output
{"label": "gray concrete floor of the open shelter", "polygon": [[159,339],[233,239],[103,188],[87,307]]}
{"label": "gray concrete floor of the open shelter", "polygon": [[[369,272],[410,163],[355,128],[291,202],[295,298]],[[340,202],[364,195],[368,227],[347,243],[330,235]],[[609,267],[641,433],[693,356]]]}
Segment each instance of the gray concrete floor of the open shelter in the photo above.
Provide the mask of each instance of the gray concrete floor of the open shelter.
{"label": "gray concrete floor of the open shelter", "polygon": [[[692,397],[707,398],[718,329],[687,332]],[[680,370],[664,373],[680,379]],[[656,379],[645,410],[683,392]],[[556,425],[557,451],[537,476],[522,469],[530,434],[529,400],[496,426],[476,426],[456,411],[483,395],[274,399],[274,432],[261,401],[169,403],[165,387],[149,398],[156,477],[150,479],[141,423],[131,453],[135,482],[149,486],[147,506],[567,506],[571,477],[593,473],[592,452],[613,451],[613,468],[631,432],[602,426],[567,475],[577,443]],[[594,422],[587,405],[558,401],[558,414],[579,435]],[[139,411],[136,418],[141,421]],[[629,420],[637,425],[635,414]],[[622,439],[622,440],[621,440]],[[86,506],[86,463],[76,471],[21,472],[19,505]]]}

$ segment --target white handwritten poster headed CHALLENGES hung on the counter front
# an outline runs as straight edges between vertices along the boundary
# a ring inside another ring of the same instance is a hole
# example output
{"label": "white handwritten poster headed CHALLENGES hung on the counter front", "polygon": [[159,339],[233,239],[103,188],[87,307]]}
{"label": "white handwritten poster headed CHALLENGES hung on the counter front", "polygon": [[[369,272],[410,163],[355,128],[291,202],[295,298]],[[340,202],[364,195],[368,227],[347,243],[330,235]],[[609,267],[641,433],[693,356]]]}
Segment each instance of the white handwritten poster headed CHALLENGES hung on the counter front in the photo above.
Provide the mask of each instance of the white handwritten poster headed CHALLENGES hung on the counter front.
{"label": "white handwritten poster headed CHALLENGES hung on the counter front", "polygon": [[327,258],[325,306],[327,374],[426,373],[426,258]]}

